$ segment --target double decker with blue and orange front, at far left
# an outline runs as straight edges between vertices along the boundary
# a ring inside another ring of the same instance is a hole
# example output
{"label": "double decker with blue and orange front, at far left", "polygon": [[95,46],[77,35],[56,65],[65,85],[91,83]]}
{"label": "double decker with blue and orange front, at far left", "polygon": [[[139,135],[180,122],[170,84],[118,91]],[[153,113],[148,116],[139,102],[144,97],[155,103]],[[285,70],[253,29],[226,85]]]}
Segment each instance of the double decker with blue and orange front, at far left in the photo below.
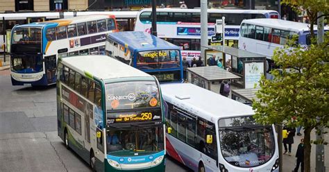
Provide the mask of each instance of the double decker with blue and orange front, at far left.
{"label": "double decker with blue and orange front, at far left", "polygon": [[56,83],[57,58],[105,54],[106,34],[116,32],[113,15],[90,15],[12,28],[12,85]]}

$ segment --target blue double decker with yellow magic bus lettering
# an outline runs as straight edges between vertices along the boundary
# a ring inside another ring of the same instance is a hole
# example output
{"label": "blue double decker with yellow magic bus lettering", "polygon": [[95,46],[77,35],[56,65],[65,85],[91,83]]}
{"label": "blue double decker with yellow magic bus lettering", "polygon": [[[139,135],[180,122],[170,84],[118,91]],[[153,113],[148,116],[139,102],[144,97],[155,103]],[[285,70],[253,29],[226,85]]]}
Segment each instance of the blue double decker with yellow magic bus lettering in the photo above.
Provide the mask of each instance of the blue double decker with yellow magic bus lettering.
{"label": "blue double decker with yellow magic bus lettering", "polygon": [[109,33],[106,54],[156,76],[160,83],[183,82],[180,48],[149,33]]}

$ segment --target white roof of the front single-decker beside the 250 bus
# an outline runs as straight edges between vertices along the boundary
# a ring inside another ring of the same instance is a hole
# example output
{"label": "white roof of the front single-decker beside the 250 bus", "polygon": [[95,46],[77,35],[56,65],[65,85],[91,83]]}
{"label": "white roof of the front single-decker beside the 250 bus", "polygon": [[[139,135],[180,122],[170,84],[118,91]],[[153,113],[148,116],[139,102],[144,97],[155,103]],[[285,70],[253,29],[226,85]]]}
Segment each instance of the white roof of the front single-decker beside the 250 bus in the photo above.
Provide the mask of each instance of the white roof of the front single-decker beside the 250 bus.
{"label": "white roof of the front single-decker beside the 250 bus", "polygon": [[162,84],[161,90],[165,101],[209,121],[255,114],[251,106],[191,83]]}

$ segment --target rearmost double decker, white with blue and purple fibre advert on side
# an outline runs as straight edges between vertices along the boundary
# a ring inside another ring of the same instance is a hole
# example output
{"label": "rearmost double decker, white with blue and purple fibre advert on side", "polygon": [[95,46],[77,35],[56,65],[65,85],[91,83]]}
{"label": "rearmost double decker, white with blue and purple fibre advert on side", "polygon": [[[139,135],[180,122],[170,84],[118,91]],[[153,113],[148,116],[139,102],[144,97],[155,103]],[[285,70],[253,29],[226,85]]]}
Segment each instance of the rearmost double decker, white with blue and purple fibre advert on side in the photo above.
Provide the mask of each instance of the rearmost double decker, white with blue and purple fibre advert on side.
{"label": "rearmost double decker, white with blue and purple fibre advert on side", "polygon": [[[216,19],[225,17],[225,44],[237,46],[239,26],[244,19],[276,18],[280,15],[275,10],[221,10],[208,9],[208,42],[214,35]],[[198,58],[201,50],[201,10],[181,8],[157,8],[158,37],[167,40],[182,49],[182,56],[187,60]],[[145,8],[137,14],[134,31],[151,32],[152,9]]]}

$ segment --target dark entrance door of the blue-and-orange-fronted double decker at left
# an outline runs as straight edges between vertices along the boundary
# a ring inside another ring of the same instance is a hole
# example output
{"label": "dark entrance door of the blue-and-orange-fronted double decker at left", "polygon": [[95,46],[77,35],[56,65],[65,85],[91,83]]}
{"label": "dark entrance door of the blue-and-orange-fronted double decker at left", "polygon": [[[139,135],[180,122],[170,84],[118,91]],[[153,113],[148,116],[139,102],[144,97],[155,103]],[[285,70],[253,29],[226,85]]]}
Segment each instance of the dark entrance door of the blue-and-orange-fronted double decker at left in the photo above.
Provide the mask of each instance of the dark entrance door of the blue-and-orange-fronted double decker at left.
{"label": "dark entrance door of the blue-and-orange-fronted double decker at left", "polygon": [[47,83],[56,82],[56,55],[44,57],[44,71],[47,76]]}

